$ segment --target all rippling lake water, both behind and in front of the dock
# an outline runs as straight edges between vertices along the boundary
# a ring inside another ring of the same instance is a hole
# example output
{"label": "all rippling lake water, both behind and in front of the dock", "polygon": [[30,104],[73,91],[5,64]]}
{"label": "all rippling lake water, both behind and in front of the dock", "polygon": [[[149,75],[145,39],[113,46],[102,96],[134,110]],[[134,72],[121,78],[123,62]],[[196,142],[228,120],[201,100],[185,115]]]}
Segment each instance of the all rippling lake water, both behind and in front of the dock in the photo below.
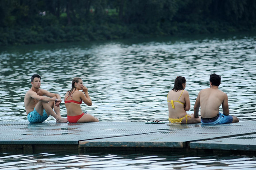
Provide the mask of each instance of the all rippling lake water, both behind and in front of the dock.
{"label": "all rippling lake water, both behind and in front of the dock", "polygon": [[[167,93],[186,77],[191,109],[198,92],[221,75],[230,115],[256,119],[256,34],[200,35],[0,47],[0,121],[27,121],[23,99],[32,74],[62,99],[81,77],[93,101],[82,110],[100,121],[168,120]],[[222,111],[222,110],[221,110]],[[64,102],[62,116],[66,117]],[[51,116],[47,121],[52,121]],[[0,169],[239,169],[256,168],[252,155],[186,153],[1,153]]]}

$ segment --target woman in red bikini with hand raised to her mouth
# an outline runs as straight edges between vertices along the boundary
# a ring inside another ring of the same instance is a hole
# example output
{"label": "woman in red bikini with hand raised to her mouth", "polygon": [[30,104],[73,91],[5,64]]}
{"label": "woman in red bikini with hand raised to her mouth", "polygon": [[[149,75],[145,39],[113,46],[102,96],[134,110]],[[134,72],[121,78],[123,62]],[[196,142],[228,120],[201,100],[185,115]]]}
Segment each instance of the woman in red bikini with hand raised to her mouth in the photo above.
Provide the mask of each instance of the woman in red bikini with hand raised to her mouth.
{"label": "woman in red bikini with hand raised to her mouth", "polygon": [[99,120],[96,117],[83,113],[80,107],[82,101],[88,106],[92,105],[88,89],[83,85],[82,79],[75,77],[72,80],[72,88],[66,93],[64,99],[69,123],[98,122]]}

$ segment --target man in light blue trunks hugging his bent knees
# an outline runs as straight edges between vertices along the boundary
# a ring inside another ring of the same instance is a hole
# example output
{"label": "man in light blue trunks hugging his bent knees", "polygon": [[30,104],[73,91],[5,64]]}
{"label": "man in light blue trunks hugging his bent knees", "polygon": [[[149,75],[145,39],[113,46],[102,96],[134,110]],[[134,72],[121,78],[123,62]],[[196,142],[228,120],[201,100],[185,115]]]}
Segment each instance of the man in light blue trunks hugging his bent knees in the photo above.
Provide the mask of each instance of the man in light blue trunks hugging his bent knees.
{"label": "man in light blue trunks hugging his bent knees", "polygon": [[24,98],[27,120],[30,123],[42,123],[51,115],[57,123],[66,123],[68,120],[60,115],[60,95],[40,89],[41,77],[38,74],[32,75],[31,85]]}

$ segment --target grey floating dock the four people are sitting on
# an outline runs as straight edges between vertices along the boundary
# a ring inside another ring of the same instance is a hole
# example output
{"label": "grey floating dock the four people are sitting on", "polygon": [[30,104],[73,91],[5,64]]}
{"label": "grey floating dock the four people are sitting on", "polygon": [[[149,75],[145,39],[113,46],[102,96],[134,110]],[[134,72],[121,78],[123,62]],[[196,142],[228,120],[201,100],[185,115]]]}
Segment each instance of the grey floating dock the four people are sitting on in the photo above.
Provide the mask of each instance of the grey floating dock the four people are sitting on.
{"label": "grey floating dock the four people are sitting on", "polygon": [[145,122],[0,122],[0,151],[239,151],[256,153],[256,121],[203,125]]}

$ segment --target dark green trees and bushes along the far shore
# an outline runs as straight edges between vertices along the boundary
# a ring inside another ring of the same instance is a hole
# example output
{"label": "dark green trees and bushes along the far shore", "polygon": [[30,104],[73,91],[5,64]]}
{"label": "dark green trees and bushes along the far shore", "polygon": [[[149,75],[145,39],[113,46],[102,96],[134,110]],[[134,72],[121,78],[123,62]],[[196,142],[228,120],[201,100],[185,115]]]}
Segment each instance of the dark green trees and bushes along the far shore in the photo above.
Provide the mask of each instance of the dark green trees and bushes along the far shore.
{"label": "dark green trees and bushes along the far shore", "polygon": [[256,31],[256,0],[1,0],[0,46]]}

